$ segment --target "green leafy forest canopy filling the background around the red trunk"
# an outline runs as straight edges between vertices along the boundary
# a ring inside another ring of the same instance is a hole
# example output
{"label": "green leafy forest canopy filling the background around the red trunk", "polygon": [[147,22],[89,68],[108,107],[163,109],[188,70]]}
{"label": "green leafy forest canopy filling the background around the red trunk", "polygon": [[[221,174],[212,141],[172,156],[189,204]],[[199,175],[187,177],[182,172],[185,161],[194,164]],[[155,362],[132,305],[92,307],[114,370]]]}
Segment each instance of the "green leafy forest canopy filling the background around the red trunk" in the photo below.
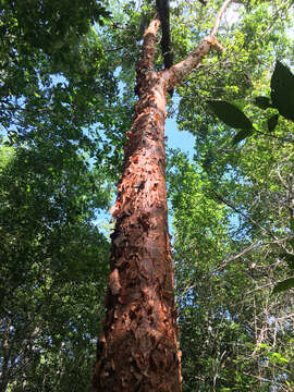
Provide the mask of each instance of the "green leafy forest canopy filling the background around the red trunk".
{"label": "green leafy forest canopy filling the background around the red trunk", "polygon": [[[176,63],[197,47],[221,3],[170,1],[157,70],[167,50]],[[156,1],[3,0],[0,12],[0,390],[82,392]],[[293,390],[292,15],[289,0],[232,2],[224,50],[169,98],[195,137],[193,159],[168,148],[167,172],[184,391]]]}

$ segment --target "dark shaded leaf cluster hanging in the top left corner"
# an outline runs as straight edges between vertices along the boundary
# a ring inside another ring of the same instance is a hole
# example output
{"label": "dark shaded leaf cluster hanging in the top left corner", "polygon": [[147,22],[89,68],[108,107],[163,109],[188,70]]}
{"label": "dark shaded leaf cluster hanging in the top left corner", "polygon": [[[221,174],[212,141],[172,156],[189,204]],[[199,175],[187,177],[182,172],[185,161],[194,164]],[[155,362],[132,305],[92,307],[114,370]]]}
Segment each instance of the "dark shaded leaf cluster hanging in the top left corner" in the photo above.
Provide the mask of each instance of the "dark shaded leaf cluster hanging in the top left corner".
{"label": "dark shaded leaf cluster hanging in the top left corner", "polygon": [[21,56],[42,49],[53,60],[61,57],[68,61],[71,47],[78,44],[90,24],[103,24],[110,16],[106,5],[106,1],[94,0],[86,4],[81,0],[2,0],[0,34],[4,41],[16,40]]}

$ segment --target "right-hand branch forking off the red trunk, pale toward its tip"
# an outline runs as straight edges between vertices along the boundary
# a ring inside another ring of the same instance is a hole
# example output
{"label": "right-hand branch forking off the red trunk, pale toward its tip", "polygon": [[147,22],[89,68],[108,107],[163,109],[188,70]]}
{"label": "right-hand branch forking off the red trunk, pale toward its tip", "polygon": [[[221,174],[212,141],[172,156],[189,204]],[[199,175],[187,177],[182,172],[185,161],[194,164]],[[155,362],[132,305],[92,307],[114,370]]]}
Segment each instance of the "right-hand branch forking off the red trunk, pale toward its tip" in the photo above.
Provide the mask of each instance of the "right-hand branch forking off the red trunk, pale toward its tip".
{"label": "right-hand branch forking off the red trunk, pale toward its tip", "polygon": [[211,47],[217,50],[223,50],[222,46],[216,38],[216,34],[220,25],[220,20],[231,1],[233,0],[225,0],[223,2],[210,35],[205,37],[198,47],[193,50],[184,60],[180,61],[177,64],[174,64],[169,70],[163,71],[162,77],[166,81],[167,90],[175,87],[185,77],[187,77],[187,75],[203,61]]}

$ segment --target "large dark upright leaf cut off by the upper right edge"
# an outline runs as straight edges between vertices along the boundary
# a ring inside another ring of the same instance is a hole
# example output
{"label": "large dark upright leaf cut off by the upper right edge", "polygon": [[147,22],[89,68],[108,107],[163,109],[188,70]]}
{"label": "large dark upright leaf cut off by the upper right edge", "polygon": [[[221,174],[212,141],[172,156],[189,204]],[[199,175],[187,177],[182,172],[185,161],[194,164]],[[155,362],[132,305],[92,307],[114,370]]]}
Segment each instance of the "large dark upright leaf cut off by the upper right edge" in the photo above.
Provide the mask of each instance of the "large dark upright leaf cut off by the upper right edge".
{"label": "large dark upright leaf cut off by the upper right edge", "polygon": [[285,119],[294,121],[294,75],[277,61],[271,76],[271,101]]}

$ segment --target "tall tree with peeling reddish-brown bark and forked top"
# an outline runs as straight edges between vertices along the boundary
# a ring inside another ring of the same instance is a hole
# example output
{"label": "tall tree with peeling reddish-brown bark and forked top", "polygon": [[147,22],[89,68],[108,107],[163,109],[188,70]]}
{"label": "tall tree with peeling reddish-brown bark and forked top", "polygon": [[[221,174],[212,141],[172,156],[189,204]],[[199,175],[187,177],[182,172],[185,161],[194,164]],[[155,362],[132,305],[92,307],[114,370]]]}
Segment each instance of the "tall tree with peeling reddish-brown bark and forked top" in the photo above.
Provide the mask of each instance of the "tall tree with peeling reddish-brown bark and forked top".
{"label": "tall tree with peeling reddish-brown bark and forked top", "polygon": [[[107,316],[98,342],[94,392],[180,392],[181,352],[171,261],[166,191],[164,122],[168,91],[201,62],[232,0],[223,2],[215,26],[183,61],[154,70],[160,19],[144,34],[137,64],[135,117],[124,147],[123,174],[111,208],[111,273]],[[162,19],[161,19],[162,20]]]}

